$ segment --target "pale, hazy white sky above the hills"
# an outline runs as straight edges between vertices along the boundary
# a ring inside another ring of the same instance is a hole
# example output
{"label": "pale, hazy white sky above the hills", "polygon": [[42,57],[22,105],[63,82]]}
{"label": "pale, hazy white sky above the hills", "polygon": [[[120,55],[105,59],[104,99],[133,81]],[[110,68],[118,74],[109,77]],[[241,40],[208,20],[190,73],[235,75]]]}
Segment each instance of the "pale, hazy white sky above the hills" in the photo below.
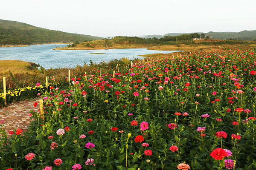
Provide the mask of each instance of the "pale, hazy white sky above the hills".
{"label": "pale, hazy white sky above the hills", "polygon": [[2,0],[0,19],[99,37],[256,30],[256,0]]}

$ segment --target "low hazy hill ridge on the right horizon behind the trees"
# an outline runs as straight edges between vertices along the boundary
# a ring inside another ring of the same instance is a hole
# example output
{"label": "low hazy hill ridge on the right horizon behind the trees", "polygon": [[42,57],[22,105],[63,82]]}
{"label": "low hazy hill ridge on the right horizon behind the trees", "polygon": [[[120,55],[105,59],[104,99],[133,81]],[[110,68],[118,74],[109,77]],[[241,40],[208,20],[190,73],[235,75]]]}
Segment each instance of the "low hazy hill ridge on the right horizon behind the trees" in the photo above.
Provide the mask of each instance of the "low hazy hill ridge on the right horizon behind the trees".
{"label": "low hazy hill ridge on the right horizon behind the trees", "polygon": [[[203,34],[203,32],[197,32],[198,34]],[[143,38],[162,38],[165,36],[177,36],[177,35],[182,35],[182,34],[192,34],[192,33],[168,33],[168,34],[164,34],[162,35],[148,35],[145,36]],[[237,38],[239,40],[256,40],[256,30],[252,30],[252,31],[240,31],[240,32],[208,32],[208,33],[204,33],[205,37],[209,36],[211,39],[221,39],[221,40],[225,40],[225,39],[233,39],[233,40],[237,40]]]}

